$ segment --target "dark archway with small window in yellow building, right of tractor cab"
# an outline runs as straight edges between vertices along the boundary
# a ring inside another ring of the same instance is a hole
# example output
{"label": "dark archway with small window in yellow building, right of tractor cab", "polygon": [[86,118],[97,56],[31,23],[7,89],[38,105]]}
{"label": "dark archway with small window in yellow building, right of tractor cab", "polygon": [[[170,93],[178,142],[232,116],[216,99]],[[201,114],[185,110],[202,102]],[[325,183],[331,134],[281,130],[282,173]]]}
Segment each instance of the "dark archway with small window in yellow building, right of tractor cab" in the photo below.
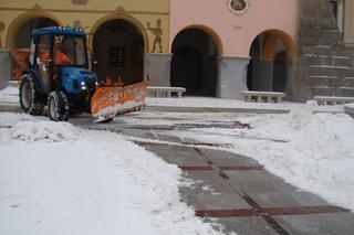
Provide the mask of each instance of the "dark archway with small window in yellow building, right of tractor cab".
{"label": "dark archway with small window in yellow building, right of tractor cab", "polygon": [[93,71],[125,85],[143,81],[144,38],[138,28],[124,19],[104,22],[95,31]]}

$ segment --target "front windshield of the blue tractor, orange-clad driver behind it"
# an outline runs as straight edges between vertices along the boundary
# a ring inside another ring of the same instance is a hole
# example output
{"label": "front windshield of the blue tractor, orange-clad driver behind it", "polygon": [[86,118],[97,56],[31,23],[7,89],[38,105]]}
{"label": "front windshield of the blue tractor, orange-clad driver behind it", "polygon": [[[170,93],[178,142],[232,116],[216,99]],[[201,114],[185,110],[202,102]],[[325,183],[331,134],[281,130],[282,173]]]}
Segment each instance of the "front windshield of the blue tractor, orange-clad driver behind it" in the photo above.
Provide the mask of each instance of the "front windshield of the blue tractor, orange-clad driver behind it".
{"label": "front windshield of the blue tractor, orange-clad driver behind it", "polygon": [[77,35],[54,35],[54,64],[86,66],[84,38]]}

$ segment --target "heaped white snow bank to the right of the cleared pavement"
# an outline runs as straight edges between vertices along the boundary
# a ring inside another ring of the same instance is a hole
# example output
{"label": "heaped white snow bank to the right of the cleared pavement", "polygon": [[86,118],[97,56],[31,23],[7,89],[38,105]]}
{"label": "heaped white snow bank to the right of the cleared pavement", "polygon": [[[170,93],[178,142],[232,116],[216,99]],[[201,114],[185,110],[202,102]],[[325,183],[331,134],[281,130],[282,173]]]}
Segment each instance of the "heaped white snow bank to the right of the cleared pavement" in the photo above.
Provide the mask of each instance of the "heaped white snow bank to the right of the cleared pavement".
{"label": "heaped white snow bank to the right of the cleared pavement", "polygon": [[354,211],[354,119],[312,114],[314,106],[238,119],[251,129],[195,129],[186,137],[232,143],[232,151],[254,158],[287,182]]}

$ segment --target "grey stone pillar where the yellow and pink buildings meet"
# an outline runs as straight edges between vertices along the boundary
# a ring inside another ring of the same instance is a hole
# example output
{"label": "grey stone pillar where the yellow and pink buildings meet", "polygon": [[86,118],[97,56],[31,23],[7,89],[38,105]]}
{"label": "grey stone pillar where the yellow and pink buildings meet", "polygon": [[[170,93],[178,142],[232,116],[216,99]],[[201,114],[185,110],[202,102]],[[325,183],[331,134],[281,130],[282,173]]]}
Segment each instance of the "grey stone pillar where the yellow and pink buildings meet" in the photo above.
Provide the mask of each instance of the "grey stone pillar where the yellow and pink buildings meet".
{"label": "grey stone pillar where the yellow and pink buildings meet", "polygon": [[145,53],[144,77],[150,77],[153,86],[170,86],[170,62],[173,54]]}

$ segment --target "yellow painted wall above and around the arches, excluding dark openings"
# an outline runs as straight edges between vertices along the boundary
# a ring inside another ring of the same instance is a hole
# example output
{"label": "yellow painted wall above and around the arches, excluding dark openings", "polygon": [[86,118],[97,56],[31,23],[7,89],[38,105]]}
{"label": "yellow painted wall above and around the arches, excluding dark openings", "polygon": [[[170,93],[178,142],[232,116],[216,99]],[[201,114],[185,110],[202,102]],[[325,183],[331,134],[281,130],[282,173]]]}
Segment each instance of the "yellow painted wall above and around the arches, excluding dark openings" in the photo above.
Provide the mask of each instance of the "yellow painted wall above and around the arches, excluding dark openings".
{"label": "yellow painted wall above and around the arches, excluding dark openings", "polygon": [[154,47],[153,43],[156,38],[149,29],[156,28],[157,21],[160,21],[163,51],[168,51],[169,0],[121,0],[116,2],[111,0],[2,0],[0,12],[0,21],[4,28],[1,30],[1,44],[8,49],[14,46],[15,34],[21,25],[31,19],[45,18],[62,26],[81,25],[86,33],[92,34],[107,21],[125,20],[143,34],[145,52]]}

